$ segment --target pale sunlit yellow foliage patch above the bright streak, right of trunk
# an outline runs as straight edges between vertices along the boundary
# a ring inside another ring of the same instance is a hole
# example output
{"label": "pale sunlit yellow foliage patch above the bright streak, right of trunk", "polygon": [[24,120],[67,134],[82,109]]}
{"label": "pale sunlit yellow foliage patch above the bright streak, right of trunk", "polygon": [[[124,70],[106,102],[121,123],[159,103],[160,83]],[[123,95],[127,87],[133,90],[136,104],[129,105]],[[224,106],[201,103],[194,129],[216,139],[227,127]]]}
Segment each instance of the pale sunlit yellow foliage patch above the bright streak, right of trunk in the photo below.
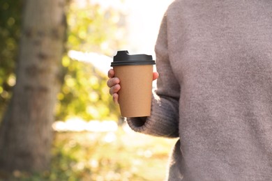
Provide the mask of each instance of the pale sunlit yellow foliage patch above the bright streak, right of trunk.
{"label": "pale sunlit yellow foliage patch above the bright streak, right of trunk", "polygon": [[68,49],[112,56],[125,42],[126,18],[121,10],[83,0],[68,8]]}

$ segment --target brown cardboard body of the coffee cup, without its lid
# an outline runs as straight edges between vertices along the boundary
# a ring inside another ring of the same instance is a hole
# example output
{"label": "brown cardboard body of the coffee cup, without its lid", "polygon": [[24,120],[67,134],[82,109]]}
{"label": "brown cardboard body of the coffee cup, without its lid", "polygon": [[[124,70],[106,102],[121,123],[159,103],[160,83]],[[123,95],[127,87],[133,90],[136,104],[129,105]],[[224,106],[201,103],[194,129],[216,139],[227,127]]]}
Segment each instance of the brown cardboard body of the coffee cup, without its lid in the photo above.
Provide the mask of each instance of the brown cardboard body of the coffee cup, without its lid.
{"label": "brown cardboard body of the coffee cup, without its lid", "polygon": [[123,117],[151,115],[153,65],[114,66],[120,79],[119,106]]}

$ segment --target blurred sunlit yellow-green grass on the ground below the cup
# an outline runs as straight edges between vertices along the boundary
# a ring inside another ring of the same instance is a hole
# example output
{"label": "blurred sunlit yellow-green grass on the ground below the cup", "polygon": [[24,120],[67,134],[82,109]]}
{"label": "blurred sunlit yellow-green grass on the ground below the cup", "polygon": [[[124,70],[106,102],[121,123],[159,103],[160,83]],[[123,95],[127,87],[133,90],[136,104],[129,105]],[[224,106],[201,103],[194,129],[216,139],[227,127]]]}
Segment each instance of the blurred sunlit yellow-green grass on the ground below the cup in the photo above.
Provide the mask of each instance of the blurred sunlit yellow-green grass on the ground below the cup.
{"label": "blurred sunlit yellow-green grass on the ground below the cup", "polygon": [[15,171],[10,180],[164,180],[175,142],[128,127],[116,132],[56,132],[50,171]]}

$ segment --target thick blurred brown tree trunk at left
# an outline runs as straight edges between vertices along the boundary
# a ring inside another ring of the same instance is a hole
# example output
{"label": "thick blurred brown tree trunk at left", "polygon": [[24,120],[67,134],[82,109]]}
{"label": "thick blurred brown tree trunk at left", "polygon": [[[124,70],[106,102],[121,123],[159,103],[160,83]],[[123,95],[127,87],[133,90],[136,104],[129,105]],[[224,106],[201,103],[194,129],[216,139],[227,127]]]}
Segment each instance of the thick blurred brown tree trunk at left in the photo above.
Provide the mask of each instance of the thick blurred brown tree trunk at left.
{"label": "thick blurred brown tree trunk at left", "polygon": [[56,94],[66,34],[65,0],[27,0],[17,82],[0,128],[0,168],[43,171],[50,164]]}

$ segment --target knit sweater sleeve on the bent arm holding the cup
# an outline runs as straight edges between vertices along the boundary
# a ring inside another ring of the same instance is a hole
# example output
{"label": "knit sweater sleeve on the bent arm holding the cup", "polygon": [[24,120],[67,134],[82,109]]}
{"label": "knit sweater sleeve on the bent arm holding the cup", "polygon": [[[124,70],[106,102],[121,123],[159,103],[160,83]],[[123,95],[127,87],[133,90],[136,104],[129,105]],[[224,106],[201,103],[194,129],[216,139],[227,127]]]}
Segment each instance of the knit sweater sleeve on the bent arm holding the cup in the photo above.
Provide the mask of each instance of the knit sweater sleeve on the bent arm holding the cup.
{"label": "knit sweater sleeve on the bent arm holding the cup", "polygon": [[126,120],[136,132],[174,138],[179,136],[180,86],[169,62],[166,15],[160,25],[155,52],[159,77],[157,89],[153,91],[151,116]]}

